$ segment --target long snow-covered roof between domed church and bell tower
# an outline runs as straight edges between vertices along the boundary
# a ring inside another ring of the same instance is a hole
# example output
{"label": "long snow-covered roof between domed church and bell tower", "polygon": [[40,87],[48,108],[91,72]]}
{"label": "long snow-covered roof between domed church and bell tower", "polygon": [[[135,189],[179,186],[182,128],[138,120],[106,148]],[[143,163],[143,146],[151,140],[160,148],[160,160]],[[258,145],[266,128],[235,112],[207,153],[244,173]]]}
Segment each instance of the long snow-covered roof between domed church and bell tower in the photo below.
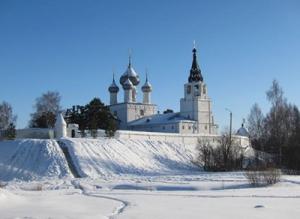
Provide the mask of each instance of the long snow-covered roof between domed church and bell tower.
{"label": "long snow-covered roof between domed church and bell tower", "polygon": [[180,113],[166,113],[145,116],[143,118],[129,122],[128,126],[179,123],[181,121],[194,122],[194,120],[189,120],[185,117],[182,117]]}

